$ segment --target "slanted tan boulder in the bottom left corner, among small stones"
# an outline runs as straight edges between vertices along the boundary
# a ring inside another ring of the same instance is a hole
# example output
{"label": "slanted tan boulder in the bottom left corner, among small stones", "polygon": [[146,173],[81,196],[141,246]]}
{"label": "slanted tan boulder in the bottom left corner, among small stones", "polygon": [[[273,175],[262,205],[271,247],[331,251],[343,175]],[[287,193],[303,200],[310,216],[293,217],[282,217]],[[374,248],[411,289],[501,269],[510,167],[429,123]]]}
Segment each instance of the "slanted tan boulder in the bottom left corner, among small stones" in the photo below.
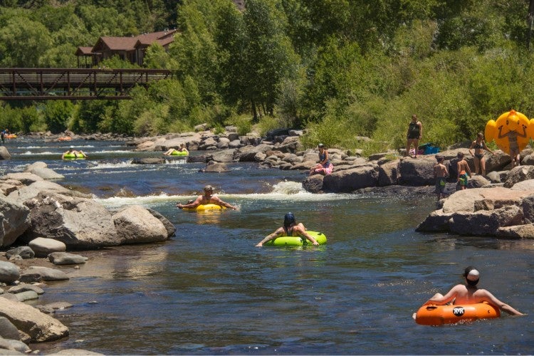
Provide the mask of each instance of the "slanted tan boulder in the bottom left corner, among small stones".
{"label": "slanted tan boulder in the bottom left corner, among small stones", "polygon": [[2,300],[0,316],[9,319],[18,330],[29,335],[31,342],[53,341],[68,335],[65,325],[25,303]]}

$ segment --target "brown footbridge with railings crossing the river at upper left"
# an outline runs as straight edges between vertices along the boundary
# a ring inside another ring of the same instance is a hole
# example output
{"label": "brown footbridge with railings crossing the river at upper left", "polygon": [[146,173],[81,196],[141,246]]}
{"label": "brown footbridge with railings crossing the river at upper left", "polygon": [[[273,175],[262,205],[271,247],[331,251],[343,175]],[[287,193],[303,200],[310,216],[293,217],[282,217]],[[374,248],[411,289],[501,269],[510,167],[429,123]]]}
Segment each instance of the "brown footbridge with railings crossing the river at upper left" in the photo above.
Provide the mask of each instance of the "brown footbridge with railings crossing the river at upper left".
{"label": "brown footbridge with railings crossing the river at upper left", "polygon": [[136,85],[171,76],[162,69],[0,68],[0,100],[124,100]]}

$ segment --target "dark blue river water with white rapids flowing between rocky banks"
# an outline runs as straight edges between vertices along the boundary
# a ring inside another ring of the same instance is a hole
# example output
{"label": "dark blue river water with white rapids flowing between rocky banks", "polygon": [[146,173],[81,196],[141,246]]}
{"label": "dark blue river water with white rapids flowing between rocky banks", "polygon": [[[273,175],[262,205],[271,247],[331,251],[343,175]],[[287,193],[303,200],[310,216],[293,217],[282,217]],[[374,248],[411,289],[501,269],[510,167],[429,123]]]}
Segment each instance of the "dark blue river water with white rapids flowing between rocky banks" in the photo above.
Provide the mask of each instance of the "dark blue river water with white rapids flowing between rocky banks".
{"label": "dark blue river water with white rapids flowing between rocky banks", "polygon": [[[74,145],[90,159],[63,162]],[[162,244],[80,252],[70,281],[51,283],[36,303],[67,301],[56,318],[70,329],[41,352],[80,348],[104,354],[179,355],[532,355],[533,318],[506,315],[464,325],[417,325],[412,313],[431,295],[461,283],[468,265],[481,287],[533,313],[534,241],[420,234],[434,197],[308,194],[303,172],[174,158],[131,164],[123,142],[44,142],[19,138],[0,174],[42,161],[66,187],[89,192],[110,209],[142,204],[177,227]],[[192,152],[192,155],[198,152]],[[205,184],[238,211],[197,214],[174,205]],[[292,211],[328,244],[256,248]],[[56,267],[60,268],[60,267]]]}

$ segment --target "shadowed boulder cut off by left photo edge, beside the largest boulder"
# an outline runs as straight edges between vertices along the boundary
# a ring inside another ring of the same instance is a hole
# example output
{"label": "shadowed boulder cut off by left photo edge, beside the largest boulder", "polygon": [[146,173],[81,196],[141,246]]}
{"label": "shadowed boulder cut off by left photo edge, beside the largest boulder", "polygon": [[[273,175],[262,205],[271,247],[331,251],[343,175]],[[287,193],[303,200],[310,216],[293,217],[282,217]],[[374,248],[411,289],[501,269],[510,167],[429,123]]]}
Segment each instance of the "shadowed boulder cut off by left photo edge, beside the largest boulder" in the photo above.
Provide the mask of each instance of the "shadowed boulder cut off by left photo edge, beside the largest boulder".
{"label": "shadowed boulder cut off by left photo edge, beside the largest boulder", "polygon": [[0,246],[11,246],[30,226],[30,209],[0,195]]}

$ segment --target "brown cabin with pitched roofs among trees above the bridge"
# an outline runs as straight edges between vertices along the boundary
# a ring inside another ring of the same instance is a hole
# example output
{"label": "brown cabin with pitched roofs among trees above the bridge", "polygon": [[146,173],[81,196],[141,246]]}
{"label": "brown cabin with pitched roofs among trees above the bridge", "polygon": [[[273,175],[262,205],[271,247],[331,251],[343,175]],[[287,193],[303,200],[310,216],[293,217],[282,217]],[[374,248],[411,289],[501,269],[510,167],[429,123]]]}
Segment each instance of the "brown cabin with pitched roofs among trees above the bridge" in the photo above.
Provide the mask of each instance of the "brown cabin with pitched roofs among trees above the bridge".
{"label": "brown cabin with pitched roofs among trees above the bridge", "polygon": [[98,63],[112,56],[143,66],[147,47],[157,42],[168,51],[176,32],[177,30],[167,30],[132,37],[100,37],[93,47],[78,47],[75,52],[78,68],[98,66]]}

